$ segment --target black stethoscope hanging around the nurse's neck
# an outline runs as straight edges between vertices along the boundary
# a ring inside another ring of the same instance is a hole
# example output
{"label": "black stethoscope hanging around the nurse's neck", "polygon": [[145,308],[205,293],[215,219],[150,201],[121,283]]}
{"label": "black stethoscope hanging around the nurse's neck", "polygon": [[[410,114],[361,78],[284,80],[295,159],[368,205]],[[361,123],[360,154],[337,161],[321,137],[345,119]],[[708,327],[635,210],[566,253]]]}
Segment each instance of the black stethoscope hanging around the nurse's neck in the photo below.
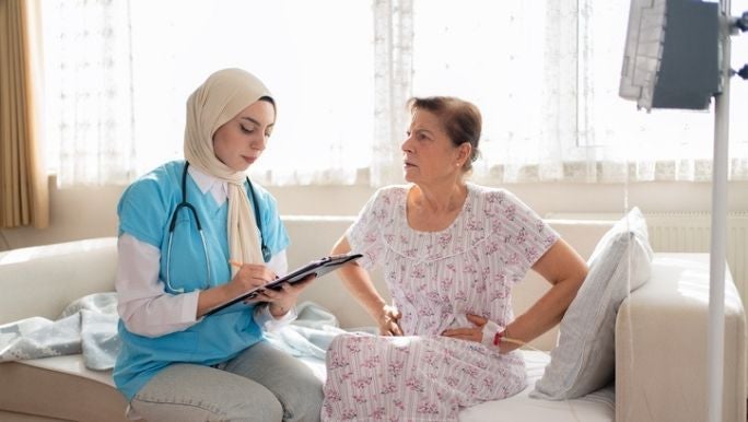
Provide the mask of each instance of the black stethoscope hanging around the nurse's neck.
{"label": "black stethoscope hanging around the nurse's neck", "polygon": [[[172,213],[172,221],[168,224],[168,245],[166,246],[166,286],[175,293],[184,293],[185,289],[174,289],[172,286],[171,278],[171,266],[172,266],[172,238],[174,237],[174,227],[176,226],[177,215],[183,208],[186,208],[195,219],[195,225],[197,226],[198,234],[200,234],[200,241],[202,243],[202,251],[206,258],[206,280],[208,283],[206,288],[210,288],[210,259],[208,257],[208,244],[206,243],[206,235],[202,233],[202,224],[200,224],[200,219],[198,218],[197,210],[192,207],[189,201],[187,201],[187,167],[189,167],[189,162],[185,162],[185,169],[182,172],[182,202],[179,202],[174,212]],[[271,258],[270,248],[265,244],[265,236],[262,236],[262,219],[259,213],[259,204],[257,203],[257,196],[255,195],[255,188],[247,177],[247,184],[249,184],[249,195],[252,196],[252,204],[255,209],[255,222],[257,223],[257,228],[259,228],[260,245],[262,250],[262,259],[268,262]]]}

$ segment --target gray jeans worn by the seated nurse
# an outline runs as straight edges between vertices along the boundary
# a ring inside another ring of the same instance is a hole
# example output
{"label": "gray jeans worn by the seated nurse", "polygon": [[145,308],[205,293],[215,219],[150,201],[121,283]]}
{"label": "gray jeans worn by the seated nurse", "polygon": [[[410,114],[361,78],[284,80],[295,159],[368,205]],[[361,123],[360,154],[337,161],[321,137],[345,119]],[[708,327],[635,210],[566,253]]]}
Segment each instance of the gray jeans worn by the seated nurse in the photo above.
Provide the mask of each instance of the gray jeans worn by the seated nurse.
{"label": "gray jeans worn by the seated nurse", "polygon": [[148,421],[319,421],[322,382],[302,362],[268,344],[219,367],[174,364],[130,406]]}

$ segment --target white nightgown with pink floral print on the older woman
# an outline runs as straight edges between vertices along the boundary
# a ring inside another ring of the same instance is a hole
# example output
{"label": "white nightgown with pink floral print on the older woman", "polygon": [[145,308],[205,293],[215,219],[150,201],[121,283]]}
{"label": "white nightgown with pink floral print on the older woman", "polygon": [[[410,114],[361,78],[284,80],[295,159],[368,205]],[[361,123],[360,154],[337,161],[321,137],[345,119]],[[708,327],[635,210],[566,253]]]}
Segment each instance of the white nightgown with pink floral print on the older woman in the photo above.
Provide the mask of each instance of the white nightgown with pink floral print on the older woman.
{"label": "white nightgown with pink floral print on the older woman", "polygon": [[408,225],[410,186],[376,192],[347,232],[364,268],[382,267],[404,337],[338,336],[327,353],[325,421],[449,421],[460,407],[526,386],[518,352],[441,337],[466,314],[506,326],[512,285],[558,239],[503,189],[468,184],[459,215],[441,232]]}

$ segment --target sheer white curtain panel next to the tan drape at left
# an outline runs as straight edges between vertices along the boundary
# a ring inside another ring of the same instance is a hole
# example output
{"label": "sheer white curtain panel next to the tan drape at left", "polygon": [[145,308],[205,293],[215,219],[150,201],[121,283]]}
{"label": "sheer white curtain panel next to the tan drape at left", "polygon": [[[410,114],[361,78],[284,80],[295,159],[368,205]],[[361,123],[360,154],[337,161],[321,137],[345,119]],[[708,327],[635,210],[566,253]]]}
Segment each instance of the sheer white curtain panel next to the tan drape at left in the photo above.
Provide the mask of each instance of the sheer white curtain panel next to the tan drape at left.
{"label": "sheer white curtain panel next to the tan drape at left", "polygon": [[[61,186],[135,176],[129,1],[48,0],[45,138]],[[55,16],[55,19],[49,19]]]}

